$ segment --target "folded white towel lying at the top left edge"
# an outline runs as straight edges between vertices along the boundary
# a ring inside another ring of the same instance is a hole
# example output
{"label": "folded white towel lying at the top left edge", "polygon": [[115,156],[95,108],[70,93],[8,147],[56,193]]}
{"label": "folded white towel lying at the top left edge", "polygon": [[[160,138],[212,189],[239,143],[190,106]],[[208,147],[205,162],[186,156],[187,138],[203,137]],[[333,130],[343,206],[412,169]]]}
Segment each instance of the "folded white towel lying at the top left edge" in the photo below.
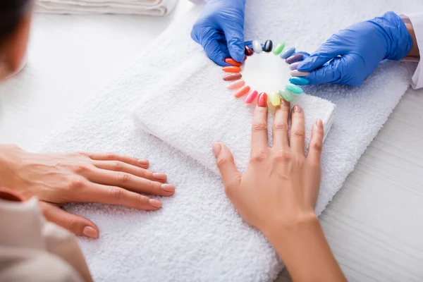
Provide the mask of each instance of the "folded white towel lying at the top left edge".
{"label": "folded white towel lying at the top left edge", "polygon": [[178,0],[37,0],[37,13],[116,13],[164,16]]}

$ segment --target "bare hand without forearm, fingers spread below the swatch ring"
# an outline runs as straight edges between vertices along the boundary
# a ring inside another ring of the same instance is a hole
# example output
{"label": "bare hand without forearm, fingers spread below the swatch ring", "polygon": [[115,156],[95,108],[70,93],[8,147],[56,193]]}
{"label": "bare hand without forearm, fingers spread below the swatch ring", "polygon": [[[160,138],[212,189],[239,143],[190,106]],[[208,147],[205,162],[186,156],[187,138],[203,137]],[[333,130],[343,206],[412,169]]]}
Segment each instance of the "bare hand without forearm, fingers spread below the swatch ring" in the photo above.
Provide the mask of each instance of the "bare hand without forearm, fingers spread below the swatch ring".
{"label": "bare hand without forearm, fingers spread below the swatch ring", "polygon": [[244,175],[235,168],[225,145],[213,149],[226,195],[243,219],[266,233],[275,225],[293,226],[314,217],[320,185],[321,120],[313,125],[304,156],[304,113],[294,106],[288,142],[289,104],[283,100],[275,113],[274,145],[267,142],[267,108],[257,106],[252,121],[251,159]]}

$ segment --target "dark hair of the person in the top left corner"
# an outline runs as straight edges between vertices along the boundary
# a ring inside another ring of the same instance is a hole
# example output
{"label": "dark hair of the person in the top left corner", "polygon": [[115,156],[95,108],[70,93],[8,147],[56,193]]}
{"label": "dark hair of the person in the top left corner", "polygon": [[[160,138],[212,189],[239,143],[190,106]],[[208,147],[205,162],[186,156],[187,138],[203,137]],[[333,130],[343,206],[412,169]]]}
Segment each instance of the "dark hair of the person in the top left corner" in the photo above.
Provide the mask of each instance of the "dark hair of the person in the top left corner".
{"label": "dark hair of the person in the top left corner", "polygon": [[0,0],[0,47],[30,11],[32,0]]}

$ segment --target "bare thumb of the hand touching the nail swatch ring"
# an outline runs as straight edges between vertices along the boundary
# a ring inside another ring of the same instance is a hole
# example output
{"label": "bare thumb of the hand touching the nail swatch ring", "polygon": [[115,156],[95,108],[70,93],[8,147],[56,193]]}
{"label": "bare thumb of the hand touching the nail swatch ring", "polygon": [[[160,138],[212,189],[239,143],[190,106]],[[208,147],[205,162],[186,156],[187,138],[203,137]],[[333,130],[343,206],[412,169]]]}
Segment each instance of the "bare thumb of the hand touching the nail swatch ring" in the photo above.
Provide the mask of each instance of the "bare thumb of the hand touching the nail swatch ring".
{"label": "bare thumb of the hand touching the nail swatch ring", "polygon": [[241,175],[235,166],[233,155],[226,145],[215,143],[213,145],[213,152],[216,156],[216,164],[222,176],[226,195],[229,197],[229,190],[240,185]]}

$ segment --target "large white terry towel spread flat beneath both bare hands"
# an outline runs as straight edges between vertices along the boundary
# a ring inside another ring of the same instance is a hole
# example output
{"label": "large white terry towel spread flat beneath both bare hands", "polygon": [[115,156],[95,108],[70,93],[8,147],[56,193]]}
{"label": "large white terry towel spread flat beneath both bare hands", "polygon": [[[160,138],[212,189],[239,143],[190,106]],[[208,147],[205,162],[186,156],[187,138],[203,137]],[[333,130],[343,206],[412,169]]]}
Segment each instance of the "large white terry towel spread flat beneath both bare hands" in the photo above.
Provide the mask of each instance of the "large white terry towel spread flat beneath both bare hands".
{"label": "large white terry towel spread flat beneath both bare hands", "polygon": [[[385,11],[423,11],[421,0],[246,2],[246,39],[285,41],[305,51],[313,51],[341,27]],[[281,270],[274,250],[243,223],[227,200],[220,177],[136,128],[128,114],[157,82],[201,50],[190,39],[200,9],[173,23],[150,51],[134,59],[128,71],[83,105],[40,149],[147,158],[152,169],[168,173],[169,182],[176,185],[176,194],[162,198],[164,207],[158,212],[100,204],[66,207],[99,226],[99,240],[80,240],[96,281],[269,281]],[[407,75],[402,63],[386,62],[361,87],[307,87],[308,94],[336,104],[337,116],[324,142],[319,207],[341,188],[391,114],[409,85]],[[158,94],[172,97],[171,90]]]}

